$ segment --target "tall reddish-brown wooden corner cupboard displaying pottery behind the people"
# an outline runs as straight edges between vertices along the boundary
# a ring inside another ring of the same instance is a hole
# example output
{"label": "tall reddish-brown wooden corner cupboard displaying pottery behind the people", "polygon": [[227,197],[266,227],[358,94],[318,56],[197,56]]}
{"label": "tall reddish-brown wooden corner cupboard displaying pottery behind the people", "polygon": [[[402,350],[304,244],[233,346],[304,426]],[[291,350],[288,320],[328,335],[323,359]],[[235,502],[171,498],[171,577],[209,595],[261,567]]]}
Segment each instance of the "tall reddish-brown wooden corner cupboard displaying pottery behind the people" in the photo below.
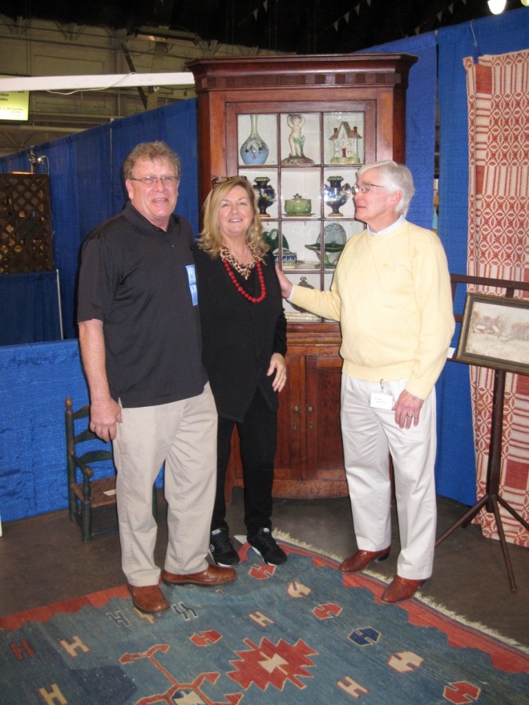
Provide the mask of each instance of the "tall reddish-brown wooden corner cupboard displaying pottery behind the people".
{"label": "tall reddish-brown wooden corner cupboard displaying pottery behind the people", "polygon": [[[265,239],[291,281],[328,289],[355,220],[362,164],[403,162],[408,54],[195,59],[199,197],[246,176]],[[274,496],[346,496],[339,324],[285,303],[288,386],[279,397]],[[243,486],[233,443],[226,496]]]}

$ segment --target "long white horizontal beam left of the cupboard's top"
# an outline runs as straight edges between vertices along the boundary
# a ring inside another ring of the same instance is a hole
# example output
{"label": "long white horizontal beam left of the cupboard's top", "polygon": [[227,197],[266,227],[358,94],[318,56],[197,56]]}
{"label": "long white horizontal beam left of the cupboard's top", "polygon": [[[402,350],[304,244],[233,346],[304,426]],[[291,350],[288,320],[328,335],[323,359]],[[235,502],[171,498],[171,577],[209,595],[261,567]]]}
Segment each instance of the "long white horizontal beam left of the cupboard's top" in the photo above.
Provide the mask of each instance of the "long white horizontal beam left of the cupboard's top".
{"label": "long white horizontal beam left of the cupboard's top", "polygon": [[193,87],[193,73],[108,73],[86,76],[18,76],[0,78],[0,92],[32,90],[104,90],[138,86]]}

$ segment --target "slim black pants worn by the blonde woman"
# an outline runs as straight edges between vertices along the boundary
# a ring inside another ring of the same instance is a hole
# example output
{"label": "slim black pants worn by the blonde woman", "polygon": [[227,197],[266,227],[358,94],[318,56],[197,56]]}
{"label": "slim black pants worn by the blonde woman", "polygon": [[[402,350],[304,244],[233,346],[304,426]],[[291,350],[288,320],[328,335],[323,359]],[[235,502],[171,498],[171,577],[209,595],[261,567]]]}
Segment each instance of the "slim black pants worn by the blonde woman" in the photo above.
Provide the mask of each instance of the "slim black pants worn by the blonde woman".
{"label": "slim black pants worn by the blonde woman", "polygon": [[241,441],[244,483],[244,523],[248,534],[257,529],[272,529],[272,484],[277,443],[277,414],[257,389],[242,422],[219,416],[217,428],[217,496],[213,509],[212,531],[226,523],[224,484],[230,458],[231,434],[237,426]]}

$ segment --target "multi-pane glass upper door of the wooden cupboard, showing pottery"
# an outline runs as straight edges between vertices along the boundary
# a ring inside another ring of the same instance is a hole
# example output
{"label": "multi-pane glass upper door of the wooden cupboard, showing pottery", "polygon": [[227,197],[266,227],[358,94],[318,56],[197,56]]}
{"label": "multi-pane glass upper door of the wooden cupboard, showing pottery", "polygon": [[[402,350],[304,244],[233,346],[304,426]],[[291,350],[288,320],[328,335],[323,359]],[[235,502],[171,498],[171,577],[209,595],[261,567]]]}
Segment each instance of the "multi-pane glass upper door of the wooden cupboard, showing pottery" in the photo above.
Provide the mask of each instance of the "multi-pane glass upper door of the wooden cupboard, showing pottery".
{"label": "multi-pane glass upper door of the wooden cupboard, showing pottery", "polygon": [[[265,240],[293,283],[328,289],[347,240],[363,231],[352,187],[372,151],[365,131],[374,133],[375,111],[368,103],[328,111],[230,106],[237,154],[229,161],[252,183]],[[285,310],[291,320],[319,320],[288,302]]]}

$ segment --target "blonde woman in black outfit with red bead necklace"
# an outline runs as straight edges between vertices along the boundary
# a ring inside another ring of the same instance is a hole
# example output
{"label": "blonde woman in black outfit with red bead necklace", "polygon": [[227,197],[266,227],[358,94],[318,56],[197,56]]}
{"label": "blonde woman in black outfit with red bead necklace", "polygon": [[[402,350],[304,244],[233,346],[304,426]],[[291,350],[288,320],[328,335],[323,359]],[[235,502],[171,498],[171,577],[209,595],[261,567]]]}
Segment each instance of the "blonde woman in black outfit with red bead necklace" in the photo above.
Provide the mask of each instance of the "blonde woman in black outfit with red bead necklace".
{"label": "blonde woman in black outfit with red bead necklace", "polygon": [[194,250],[202,354],[219,414],[209,550],[217,565],[238,563],[224,500],[236,425],[247,540],[265,563],[279,565],[286,553],[272,536],[271,517],[277,395],[286,383],[286,319],[274,255],[262,240],[255,192],[247,179],[214,180]]}

